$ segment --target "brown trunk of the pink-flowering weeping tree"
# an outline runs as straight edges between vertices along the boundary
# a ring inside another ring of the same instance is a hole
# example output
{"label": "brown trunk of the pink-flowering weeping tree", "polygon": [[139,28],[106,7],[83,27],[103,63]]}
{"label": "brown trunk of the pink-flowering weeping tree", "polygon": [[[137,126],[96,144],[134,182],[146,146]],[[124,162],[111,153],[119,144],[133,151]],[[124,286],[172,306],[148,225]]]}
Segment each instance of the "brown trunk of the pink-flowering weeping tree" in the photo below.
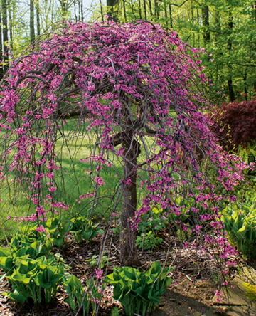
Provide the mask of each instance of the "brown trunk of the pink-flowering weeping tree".
{"label": "brown trunk of the pink-flowering weeping tree", "polygon": [[[132,139],[124,144],[124,181],[123,204],[121,215],[121,263],[126,266],[141,265],[137,256],[135,241],[136,231],[132,228],[130,219],[134,218],[137,209],[137,157],[139,154],[139,143]],[[130,181],[130,183],[129,183]]]}

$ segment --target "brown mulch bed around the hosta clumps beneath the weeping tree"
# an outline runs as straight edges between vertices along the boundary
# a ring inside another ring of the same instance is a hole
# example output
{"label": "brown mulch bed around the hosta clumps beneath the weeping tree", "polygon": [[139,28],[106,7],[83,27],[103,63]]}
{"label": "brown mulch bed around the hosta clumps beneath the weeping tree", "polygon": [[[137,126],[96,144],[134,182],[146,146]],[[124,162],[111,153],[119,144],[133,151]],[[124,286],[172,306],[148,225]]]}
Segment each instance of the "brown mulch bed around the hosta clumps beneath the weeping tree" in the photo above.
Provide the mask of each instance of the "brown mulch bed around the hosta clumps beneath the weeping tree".
{"label": "brown mulch bed around the hosta clumps beneath the weeping tree", "polygon": [[[173,279],[169,292],[163,298],[163,302],[160,304],[160,309],[172,300],[170,295],[176,297],[177,295],[183,295],[181,297],[188,297],[196,300],[198,304],[204,304],[210,306],[215,290],[218,289],[219,269],[216,265],[213,257],[213,250],[201,252],[193,244],[188,248],[181,246],[181,241],[170,236],[169,232],[161,232],[161,238],[164,241],[159,248],[154,251],[141,251],[139,258],[143,263],[142,268],[148,269],[156,260],[160,260],[161,265],[173,265],[174,270],[169,276]],[[87,280],[92,277],[95,270],[95,265],[90,265],[90,260],[93,255],[98,255],[100,252],[101,236],[97,236],[90,243],[84,242],[78,245],[70,235],[67,238],[67,243],[63,249],[56,249],[60,252],[66,263],[71,267],[70,273],[77,276],[81,282],[86,285]],[[112,273],[112,267],[114,265],[120,265],[119,260],[119,236],[110,233],[105,243],[105,256],[108,257],[108,263],[103,268],[104,275]],[[232,260],[237,265],[243,264],[238,257],[233,257]],[[227,278],[232,278],[236,273],[236,268],[232,267],[228,270]],[[4,273],[1,273],[3,275]],[[67,294],[64,288],[60,288],[57,295],[57,301],[50,305],[37,305],[33,306],[26,302],[21,305],[12,300],[9,300],[6,296],[3,296],[4,292],[10,290],[8,282],[1,280],[0,287],[0,315],[8,316],[71,316],[74,315],[70,310],[65,299]],[[171,294],[173,293],[173,294]],[[169,302],[166,301],[168,297]],[[192,304],[190,302],[190,304]],[[98,316],[111,315],[112,307],[118,306],[122,311],[122,306],[119,302],[112,300],[112,287],[107,286],[105,289],[100,308],[98,310]],[[203,306],[203,305],[202,305]],[[189,307],[190,308],[190,307]],[[202,307],[203,313],[204,307]],[[123,312],[124,315],[124,312]],[[157,309],[156,314],[157,315]],[[159,315],[174,315],[175,314],[159,314]],[[182,315],[177,314],[177,315]],[[202,314],[198,314],[202,315]]]}

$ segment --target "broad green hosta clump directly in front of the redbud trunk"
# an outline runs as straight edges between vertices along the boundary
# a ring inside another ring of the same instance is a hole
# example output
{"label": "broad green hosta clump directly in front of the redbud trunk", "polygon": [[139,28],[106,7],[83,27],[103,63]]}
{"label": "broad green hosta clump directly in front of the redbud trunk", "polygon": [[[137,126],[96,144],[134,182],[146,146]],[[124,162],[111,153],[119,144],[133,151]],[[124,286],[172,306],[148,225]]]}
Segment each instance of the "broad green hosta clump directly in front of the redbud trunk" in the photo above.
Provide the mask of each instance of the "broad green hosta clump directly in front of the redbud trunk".
{"label": "broad green hosta clump directly in front of the redbud trunk", "polygon": [[171,284],[167,275],[173,268],[161,268],[154,262],[146,273],[131,267],[115,267],[105,281],[114,285],[114,300],[121,302],[127,316],[146,315],[160,302],[160,297]]}

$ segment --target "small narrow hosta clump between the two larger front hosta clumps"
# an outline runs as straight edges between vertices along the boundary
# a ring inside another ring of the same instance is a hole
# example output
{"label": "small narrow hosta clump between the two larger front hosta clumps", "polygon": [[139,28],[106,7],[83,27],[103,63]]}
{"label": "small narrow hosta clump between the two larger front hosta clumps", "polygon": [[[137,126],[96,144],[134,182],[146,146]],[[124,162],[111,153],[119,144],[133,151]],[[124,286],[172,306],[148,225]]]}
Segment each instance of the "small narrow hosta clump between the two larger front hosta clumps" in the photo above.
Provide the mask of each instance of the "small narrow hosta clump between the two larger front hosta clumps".
{"label": "small narrow hosta clump between the two larger front hosta clumps", "polygon": [[81,281],[75,275],[71,275],[70,278],[63,282],[63,285],[68,294],[65,302],[70,305],[71,310],[77,313],[82,305],[83,316],[89,315],[90,308],[93,311],[96,310],[97,303],[100,300],[100,293],[95,287],[93,280],[92,282],[88,281],[87,289],[84,289]]}

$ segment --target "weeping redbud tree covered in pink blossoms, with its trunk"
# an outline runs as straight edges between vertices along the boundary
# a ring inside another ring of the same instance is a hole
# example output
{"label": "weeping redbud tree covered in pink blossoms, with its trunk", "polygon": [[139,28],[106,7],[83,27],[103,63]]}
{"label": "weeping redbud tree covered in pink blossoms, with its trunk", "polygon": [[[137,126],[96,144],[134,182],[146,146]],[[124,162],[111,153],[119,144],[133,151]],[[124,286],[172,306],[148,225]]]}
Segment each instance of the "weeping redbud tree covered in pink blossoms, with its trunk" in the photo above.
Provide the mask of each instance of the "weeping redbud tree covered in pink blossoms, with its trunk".
{"label": "weeping redbud tree covered in pink blossoms, with its trunk", "polygon": [[[14,186],[27,184],[33,214],[26,220],[40,231],[49,211],[68,209],[56,177],[62,160],[75,158],[75,142],[69,157],[55,144],[68,146],[72,135],[90,149],[80,163],[91,186],[80,199],[89,199],[92,214],[110,199],[110,213],[121,218],[123,265],[139,265],[137,224],[152,207],[180,216],[182,199],[196,233],[202,221],[220,225],[218,205],[241,178],[240,164],[221,154],[203,115],[200,51],[145,21],[67,22],[35,47],[13,60],[0,100],[2,181],[11,173]],[[199,204],[208,210],[203,218]]]}

